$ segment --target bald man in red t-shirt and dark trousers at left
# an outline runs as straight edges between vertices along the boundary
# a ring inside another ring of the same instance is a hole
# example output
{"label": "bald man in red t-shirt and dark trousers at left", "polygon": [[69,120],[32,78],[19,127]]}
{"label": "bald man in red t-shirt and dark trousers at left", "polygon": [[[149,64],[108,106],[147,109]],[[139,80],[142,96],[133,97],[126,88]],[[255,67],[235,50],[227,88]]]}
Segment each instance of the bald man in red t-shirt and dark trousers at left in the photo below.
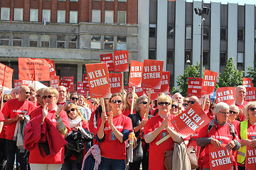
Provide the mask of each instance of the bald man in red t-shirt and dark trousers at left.
{"label": "bald man in red t-shirt and dark trousers at left", "polygon": [[[18,151],[16,141],[14,141],[14,130],[16,128],[16,123],[18,120],[23,121],[25,115],[30,115],[30,113],[36,108],[33,102],[28,101],[30,94],[31,91],[28,86],[20,86],[18,89],[18,98],[7,101],[2,110],[5,118],[4,124],[7,125],[7,170],[14,169],[15,153]],[[17,158],[21,164],[21,169],[28,169],[28,154],[26,154],[26,152],[18,152]]]}

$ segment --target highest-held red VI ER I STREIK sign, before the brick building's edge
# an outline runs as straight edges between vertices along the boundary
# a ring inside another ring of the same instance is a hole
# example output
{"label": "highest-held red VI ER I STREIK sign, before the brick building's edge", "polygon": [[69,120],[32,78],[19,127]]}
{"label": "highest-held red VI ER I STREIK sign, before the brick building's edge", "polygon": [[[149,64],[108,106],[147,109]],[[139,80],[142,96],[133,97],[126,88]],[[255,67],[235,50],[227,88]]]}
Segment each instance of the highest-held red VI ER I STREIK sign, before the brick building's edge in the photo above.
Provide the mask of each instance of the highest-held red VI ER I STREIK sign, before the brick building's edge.
{"label": "highest-held red VI ER I STREIK sign, before the brick building's edge", "polygon": [[114,51],[114,72],[129,72],[128,51]]}

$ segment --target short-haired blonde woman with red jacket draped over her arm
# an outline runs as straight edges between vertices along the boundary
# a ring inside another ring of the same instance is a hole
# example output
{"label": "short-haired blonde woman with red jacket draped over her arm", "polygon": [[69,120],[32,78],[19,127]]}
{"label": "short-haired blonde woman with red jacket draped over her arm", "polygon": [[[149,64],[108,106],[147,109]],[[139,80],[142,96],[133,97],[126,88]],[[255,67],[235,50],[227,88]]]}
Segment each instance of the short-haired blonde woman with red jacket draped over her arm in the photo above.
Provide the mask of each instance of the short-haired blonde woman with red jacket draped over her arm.
{"label": "short-haired blonde woman with red jacket draped over her arm", "polygon": [[[33,118],[43,115],[43,122],[41,125],[45,122],[45,119],[48,118],[58,132],[64,137],[70,130],[70,125],[68,115],[63,111],[63,106],[57,105],[58,96],[57,89],[52,87],[45,89],[43,91],[43,108],[34,110],[30,117],[31,120],[33,120]],[[36,146],[36,148],[30,152],[28,162],[32,170],[61,169],[62,164],[64,164],[64,147],[62,147],[57,154],[43,158],[38,146]]]}

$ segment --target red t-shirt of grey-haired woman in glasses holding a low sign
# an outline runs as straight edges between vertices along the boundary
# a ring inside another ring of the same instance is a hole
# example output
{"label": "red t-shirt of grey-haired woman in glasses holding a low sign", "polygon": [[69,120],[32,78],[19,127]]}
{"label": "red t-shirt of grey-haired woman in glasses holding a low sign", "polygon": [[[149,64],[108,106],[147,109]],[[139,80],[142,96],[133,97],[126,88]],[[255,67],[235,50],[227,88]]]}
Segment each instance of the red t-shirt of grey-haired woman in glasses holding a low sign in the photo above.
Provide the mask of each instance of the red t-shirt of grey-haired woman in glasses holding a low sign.
{"label": "red t-shirt of grey-haired woman in glasses holding a low sign", "polygon": [[[213,126],[213,128],[210,130],[210,132],[207,135],[208,125],[206,125],[201,130],[199,130],[198,137],[212,137],[220,141],[221,144],[225,144],[225,145],[227,145],[228,142],[233,140],[233,136],[230,134],[230,125],[228,123],[226,123],[225,125],[218,125],[217,123],[215,123],[215,125],[217,125],[217,129],[215,126]],[[235,140],[238,140],[238,142],[240,142],[240,140],[238,139],[237,130],[235,130],[235,134],[236,134]],[[209,145],[206,145],[205,147],[205,155],[203,157],[203,168],[210,168]]]}

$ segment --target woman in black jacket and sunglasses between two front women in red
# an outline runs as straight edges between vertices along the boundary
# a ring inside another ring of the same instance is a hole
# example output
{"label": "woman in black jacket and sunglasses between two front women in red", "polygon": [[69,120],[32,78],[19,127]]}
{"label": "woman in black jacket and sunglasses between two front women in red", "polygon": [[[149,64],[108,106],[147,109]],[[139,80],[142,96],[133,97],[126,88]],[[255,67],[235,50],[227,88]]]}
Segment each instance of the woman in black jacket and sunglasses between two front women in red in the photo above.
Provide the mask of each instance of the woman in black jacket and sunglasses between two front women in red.
{"label": "woman in black jacket and sunglasses between two front women in red", "polygon": [[[149,154],[148,149],[149,145],[144,140],[144,126],[146,125],[145,115],[146,115],[146,104],[148,102],[147,96],[140,96],[137,98],[134,108],[136,113],[130,114],[129,118],[132,119],[132,127],[135,132],[135,137],[137,137],[137,143],[139,141],[142,142],[143,149],[143,158],[141,160],[137,160],[129,163],[130,170],[139,170],[140,165],[142,164],[142,169],[149,169]],[[153,117],[153,115],[149,115],[149,118]],[[137,146],[139,147],[139,146]]]}

